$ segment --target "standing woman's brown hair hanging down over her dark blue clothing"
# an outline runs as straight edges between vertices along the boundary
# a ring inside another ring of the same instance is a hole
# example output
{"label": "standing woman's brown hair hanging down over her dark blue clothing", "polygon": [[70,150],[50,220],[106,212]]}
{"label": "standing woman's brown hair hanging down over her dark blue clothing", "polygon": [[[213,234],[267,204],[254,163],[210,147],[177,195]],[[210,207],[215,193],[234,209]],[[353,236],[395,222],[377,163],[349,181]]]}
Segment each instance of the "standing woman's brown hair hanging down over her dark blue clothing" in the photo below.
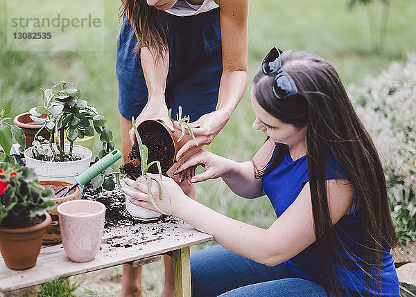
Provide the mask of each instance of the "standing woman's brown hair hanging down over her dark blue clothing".
{"label": "standing woman's brown hair hanging down over her dark blue clothing", "polygon": [[137,37],[135,52],[147,47],[153,50],[151,52],[154,57],[159,58],[168,51],[167,25],[162,24],[157,8],[149,6],[146,0],[122,0],[119,17],[123,17],[124,14],[127,15]]}

